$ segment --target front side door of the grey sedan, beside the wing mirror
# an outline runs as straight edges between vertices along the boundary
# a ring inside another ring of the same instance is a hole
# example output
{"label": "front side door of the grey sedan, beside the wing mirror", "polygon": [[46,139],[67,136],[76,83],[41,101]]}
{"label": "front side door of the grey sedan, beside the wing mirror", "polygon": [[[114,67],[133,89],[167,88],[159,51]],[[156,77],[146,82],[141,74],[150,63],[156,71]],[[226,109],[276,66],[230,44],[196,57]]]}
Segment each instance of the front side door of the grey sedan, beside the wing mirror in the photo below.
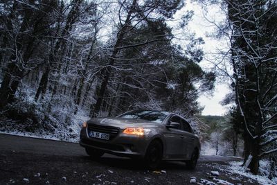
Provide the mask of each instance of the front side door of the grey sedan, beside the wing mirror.
{"label": "front side door of the grey sedan, beside the wing mirror", "polygon": [[179,123],[179,127],[170,127],[164,133],[166,139],[166,157],[170,159],[184,159],[184,131],[179,116],[172,116],[168,125]]}

